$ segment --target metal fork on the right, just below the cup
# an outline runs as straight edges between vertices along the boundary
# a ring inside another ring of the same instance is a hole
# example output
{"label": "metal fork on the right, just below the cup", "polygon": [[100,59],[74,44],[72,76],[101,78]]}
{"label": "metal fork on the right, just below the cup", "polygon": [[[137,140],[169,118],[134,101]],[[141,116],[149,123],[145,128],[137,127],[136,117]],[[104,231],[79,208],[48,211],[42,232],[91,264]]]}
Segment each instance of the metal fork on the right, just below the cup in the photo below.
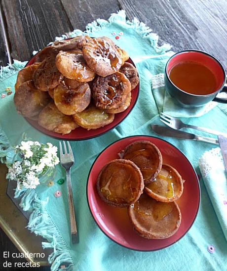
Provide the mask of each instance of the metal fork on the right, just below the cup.
{"label": "metal fork on the right, just below the cup", "polygon": [[167,126],[176,129],[176,130],[180,130],[182,128],[191,128],[191,129],[195,129],[195,130],[199,130],[202,132],[206,132],[209,134],[213,134],[213,135],[224,135],[227,136],[227,134],[225,133],[221,133],[215,130],[211,130],[208,128],[203,128],[203,127],[198,127],[198,126],[194,126],[194,125],[189,125],[189,124],[185,124],[184,122],[182,122],[179,119],[176,119],[174,117],[171,117],[167,114],[161,113],[160,115],[160,121],[162,121],[164,124],[166,124]]}

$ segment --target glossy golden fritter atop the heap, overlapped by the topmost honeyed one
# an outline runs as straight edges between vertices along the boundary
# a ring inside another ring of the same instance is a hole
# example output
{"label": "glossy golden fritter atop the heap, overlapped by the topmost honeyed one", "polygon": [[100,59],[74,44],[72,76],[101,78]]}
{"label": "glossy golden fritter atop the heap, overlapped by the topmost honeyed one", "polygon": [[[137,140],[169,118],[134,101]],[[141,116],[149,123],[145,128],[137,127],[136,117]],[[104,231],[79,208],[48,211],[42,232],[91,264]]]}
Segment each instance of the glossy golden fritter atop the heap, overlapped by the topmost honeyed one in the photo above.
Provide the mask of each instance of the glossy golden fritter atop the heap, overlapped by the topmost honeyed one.
{"label": "glossy golden fritter atop the heap, overlapped by the topmost honeyed one", "polygon": [[89,82],[95,77],[80,50],[60,51],[56,56],[56,67],[66,78],[78,82]]}

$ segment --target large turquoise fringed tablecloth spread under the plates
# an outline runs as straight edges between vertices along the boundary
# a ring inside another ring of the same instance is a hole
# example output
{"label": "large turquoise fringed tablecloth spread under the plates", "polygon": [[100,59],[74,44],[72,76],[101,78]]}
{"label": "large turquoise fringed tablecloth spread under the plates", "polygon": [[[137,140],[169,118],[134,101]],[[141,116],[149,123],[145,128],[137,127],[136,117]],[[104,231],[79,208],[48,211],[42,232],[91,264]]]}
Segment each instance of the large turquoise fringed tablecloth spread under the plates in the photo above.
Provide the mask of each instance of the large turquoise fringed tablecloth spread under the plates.
{"label": "large turquoise fringed tablecloth spread under the plates", "polygon": [[[81,33],[75,30],[70,35],[73,37]],[[48,188],[39,186],[24,195],[22,205],[34,211],[29,228],[47,239],[43,243],[44,247],[54,249],[49,258],[52,270],[57,270],[63,262],[70,264],[70,270],[74,271],[226,270],[227,242],[202,179],[200,208],[193,226],[182,239],[163,250],[137,252],[121,247],[103,234],[95,224],[86,199],[86,182],[92,163],[101,150],[119,138],[128,135],[156,136],[151,131],[151,123],[161,123],[151,91],[151,78],[163,72],[171,53],[167,52],[169,45],[157,46],[157,35],[151,33],[143,23],[136,19],[132,22],[126,21],[124,11],[113,14],[109,21],[99,19],[89,24],[86,33],[93,37],[108,36],[127,50],[139,71],[140,95],[130,115],[114,130],[90,140],[71,142],[76,161],[72,170],[72,186],[79,232],[78,244],[71,245],[66,183],[55,183]],[[116,35],[120,39],[115,40]],[[17,69],[23,66],[23,63],[15,64],[18,65],[1,71],[0,95],[6,93],[7,87],[14,91]],[[216,106],[200,118],[186,118],[185,121],[200,126],[206,124],[208,128],[227,133],[225,106]],[[0,99],[0,126],[2,157],[5,156],[9,144],[20,143],[24,132],[33,140],[59,145],[58,140],[42,135],[16,113],[12,94]],[[8,143],[4,134],[9,140]],[[213,147],[208,143],[161,138],[179,148],[197,172],[198,158]],[[58,166],[56,180],[64,177],[64,171]],[[61,197],[54,196],[56,190],[62,192]],[[215,247],[213,254],[207,250],[210,245]]]}

